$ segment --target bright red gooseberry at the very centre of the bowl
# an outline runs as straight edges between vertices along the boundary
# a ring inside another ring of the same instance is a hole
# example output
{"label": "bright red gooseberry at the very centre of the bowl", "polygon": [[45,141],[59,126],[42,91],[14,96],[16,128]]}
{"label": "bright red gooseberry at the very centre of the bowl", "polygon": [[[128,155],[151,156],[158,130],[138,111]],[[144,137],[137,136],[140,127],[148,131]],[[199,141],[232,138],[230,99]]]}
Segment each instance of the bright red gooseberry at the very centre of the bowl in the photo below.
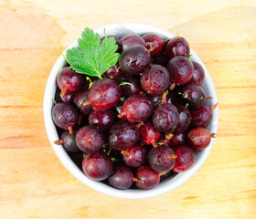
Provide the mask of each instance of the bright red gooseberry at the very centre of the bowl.
{"label": "bright red gooseberry at the very centre of the bowl", "polygon": [[150,99],[143,94],[136,94],[123,102],[123,115],[127,120],[140,122],[147,120],[154,107]]}

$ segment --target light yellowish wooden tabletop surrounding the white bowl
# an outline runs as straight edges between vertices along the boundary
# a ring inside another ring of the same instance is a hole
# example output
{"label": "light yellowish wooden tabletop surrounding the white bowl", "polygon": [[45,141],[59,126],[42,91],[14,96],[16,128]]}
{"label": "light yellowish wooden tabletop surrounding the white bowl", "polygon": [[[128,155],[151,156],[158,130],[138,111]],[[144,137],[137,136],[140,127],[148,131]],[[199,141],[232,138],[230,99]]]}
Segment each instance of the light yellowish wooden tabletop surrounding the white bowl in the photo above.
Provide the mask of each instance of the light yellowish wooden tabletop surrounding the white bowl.
{"label": "light yellowish wooden tabletop surrounding the white bowl", "polygon": [[[206,64],[219,98],[207,162],[175,191],[123,200],[60,164],[43,120],[59,52],[95,28],[135,21],[178,31]],[[256,2],[0,1],[0,218],[256,218]]]}

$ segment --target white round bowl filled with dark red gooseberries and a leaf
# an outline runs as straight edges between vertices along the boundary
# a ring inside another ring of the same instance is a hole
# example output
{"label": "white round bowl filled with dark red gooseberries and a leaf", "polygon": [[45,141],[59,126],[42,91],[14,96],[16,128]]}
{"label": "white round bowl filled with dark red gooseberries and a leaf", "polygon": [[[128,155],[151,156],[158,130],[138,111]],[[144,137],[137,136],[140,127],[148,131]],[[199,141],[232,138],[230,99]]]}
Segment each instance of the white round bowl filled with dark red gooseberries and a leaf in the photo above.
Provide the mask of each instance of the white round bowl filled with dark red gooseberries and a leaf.
{"label": "white round bowl filled with dark red gooseberries and a leaf", "polygon": [[59,52],[45,125],[59,161],[81,183],[149,198],[187,182],[206,161],[218,99],[186,36],[130,22],[85,27]]}

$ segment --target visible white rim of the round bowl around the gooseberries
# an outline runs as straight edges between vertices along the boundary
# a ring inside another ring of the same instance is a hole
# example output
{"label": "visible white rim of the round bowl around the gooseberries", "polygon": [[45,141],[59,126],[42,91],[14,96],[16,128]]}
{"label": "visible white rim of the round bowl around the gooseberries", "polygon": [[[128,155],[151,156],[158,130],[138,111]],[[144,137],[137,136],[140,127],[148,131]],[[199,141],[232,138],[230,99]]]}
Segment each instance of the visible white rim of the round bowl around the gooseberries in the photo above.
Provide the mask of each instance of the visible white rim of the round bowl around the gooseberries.
{"label": "visible white rim of the round bowl around the gooseberries", "polygon": [[[163,39],[169,38],[174,36],[173,34],[169,33],[166,30],[160,29],[156,26],[150,26],[140,23],[132,23],[132,22],[125,22],[125,23],[117,23],[111,24],[107,26],[101,26],[94,31],[97,32],[100,36],[104,36],[104,28],[106,30],[107,35],[114,35],[114,36],[124,36],[128,34],[138,34],[143,35],[144,33],[152,32],[159,36],[162,36]],[[73,42],[67,49],[71,47],[78,47],[77,41]],[[66,49],[66,50],[67,50]],[[66,50],[64,55],[66,54]],[[207,100],[208,105],[213,105],[218,102],[216,91],[213,85],[213,82],[209,76],[208,70],[201,61],[197,54],[191,49],[190,52],[193,56],[191,57],[193,61],[197,61],[205,70],[205,80],[202,85],[203,89],[206,91],[208,96],[211,96],[213,99]],[[69,155],[66,151],[62,148],[62,146],[57,146],[53,144],[53,141],[59,139],[56,127],[53,123],[51,118],[51,109],[53,107],[52,99],[55,97],[55,92],[57,89],[56,85],[56,77],[59,73],[59,69],[63,68],[67,65],[64,57],[59,56],[57,62],[55,63],[54,67],[52,68],[49,77],[47,86],[45,89],[45,96],[44,96],[44,120],[46,125],[46,130],[48,133],[48,140],[51,144],[53,151],[56,153],[59,161],[63,164],[63,166],[74,176],[76,177],[81,183],[84,183],[90,186],[92,189],[97,190],[101,193],[105,193],[108,195],[112,195],[119,198],[125,199],[142,199],[142,198],[149,198],[154,197],[156,195],[160,195],[163,193],[167,193],[171,190],[176,189],[176,187],[180,186],[181,184],[187,182],[187,180],[194,175],[200,166],[206,161],[208,158],[208,154],[212,149],[213,143],[215,139],[211,139],[210,144],[207,149],[204,151],[200,151],[197,153],[197,160],[194,165],[187,171],[178,173],[174,178],[170,180],[166,180],[162,183],[159,183],[154,189],[152,190],[117,190],[112,188],[109,185],[106,185],[101,182],[95,182],[89,179],[83,172],[80,171],[79,167],[72,162],[69,158]],[[213,110],[213,118],[208,126],[208,130],[210,132],[217,133],[218,130],[218,123],[219,123],[219,109]]]}

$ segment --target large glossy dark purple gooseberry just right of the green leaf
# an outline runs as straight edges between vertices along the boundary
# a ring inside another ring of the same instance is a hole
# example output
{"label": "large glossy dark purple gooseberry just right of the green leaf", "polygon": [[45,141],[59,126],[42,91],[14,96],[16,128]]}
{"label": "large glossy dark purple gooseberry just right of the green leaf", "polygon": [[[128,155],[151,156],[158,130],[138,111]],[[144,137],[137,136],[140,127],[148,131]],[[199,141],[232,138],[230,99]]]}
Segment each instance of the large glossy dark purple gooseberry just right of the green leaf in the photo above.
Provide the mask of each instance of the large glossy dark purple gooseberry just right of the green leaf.
{"label": "large glossy dark purple gooseberry just right of the green leaf", "polygon": [[121,70],[125,74],[139,75],[150,65],[150,54],[143,46],[136,45],[127,48],[119,58]]}

